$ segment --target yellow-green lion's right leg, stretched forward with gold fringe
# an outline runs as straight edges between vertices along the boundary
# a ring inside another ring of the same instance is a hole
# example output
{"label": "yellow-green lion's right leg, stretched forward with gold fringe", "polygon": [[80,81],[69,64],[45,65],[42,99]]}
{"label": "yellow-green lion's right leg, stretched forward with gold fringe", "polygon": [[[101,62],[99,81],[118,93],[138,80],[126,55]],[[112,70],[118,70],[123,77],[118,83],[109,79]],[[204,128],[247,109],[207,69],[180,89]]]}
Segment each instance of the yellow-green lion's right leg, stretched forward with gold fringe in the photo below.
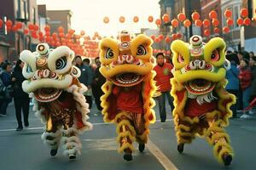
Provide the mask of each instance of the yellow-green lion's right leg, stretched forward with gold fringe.
{"label": "yellow-green lion's right leg, stretched forward with gold fringe", "polygon": [[230,146],[230,136],[225,133],[224,128],[221,127],[218,119],[208,121],[209,128],[207,129],[207,141],[213,145],[213,154],[218,161],[223,162],[224,165],[230,165],[233,150]]}

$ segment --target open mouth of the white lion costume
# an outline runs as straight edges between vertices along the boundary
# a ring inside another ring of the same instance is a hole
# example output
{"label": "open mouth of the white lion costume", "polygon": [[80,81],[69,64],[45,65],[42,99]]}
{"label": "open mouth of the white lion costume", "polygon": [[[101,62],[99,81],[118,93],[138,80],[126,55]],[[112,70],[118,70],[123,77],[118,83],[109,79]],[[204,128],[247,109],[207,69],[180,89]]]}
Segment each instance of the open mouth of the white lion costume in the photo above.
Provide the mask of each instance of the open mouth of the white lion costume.
{"label": "open mouth of the white lion costume", "polygon": [[61,93],[62,90],[57,88],[39,88],[34,92],[34,96],[39,102],[47,103],[58,99]]}

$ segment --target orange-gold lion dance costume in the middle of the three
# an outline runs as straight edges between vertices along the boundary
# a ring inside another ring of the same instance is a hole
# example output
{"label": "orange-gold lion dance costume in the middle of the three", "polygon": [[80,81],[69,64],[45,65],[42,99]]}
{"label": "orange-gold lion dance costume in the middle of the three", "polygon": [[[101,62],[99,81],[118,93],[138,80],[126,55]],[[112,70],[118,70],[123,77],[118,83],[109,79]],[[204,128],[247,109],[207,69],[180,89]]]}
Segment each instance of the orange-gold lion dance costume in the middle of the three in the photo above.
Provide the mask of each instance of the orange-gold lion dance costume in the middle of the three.
{"label": "orange-gold lion dance costume in the middle of the three", "polygon": [[152,42],[144,35],[131,40],[127,31],[119,39],[105,38],[100,45],[100,71],[107,78],[102,86],[102,114],[104,122],[117,124],[119,152],[124,151],[124,159],[131,161],[132,142],[137,140],[143,152],[149,124],[155,121]]}

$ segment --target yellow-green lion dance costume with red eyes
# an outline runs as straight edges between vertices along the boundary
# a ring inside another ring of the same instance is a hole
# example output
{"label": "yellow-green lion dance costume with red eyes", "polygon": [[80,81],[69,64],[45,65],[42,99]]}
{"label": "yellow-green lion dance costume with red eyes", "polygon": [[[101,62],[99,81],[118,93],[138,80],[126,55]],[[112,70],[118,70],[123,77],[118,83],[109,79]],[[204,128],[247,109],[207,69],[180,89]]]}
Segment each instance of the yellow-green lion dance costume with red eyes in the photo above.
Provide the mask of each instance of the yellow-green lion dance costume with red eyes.
{"label": "yellow-green lion dance costume with red eyes", "polygon": [[230,137],[224,131],[232,116],[230,105],[235,96],[225,91],[226,70],[230,63],[225,59],[225,42],[219,37],[202,42],[200,36],[190,38],[190,44],[172,42],[173,111],[177,131],[177,150],[182,153],[184,144],[195,139],[195,134],[206,137],[213,145],[213,154],[224,165],[230,165],[233,150]]}

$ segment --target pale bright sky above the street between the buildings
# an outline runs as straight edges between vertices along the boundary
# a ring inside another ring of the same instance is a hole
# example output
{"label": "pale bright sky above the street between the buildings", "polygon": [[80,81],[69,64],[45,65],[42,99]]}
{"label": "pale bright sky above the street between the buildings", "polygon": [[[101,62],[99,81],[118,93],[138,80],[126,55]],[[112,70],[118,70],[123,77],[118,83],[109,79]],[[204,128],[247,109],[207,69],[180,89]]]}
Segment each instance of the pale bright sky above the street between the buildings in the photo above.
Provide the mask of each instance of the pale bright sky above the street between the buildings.
{"label": "pale bright sky above the street between the buildings", "polygon": [[[139,32],[140,28],[156,28],[154,22],[148,22],[148,15],[154,19],[160,16],[160,0],[38,0],[46,4],[49,10],[71,9],[73,12],[72,27],[76,31],[84,30],[92,36],[98,31],[102,36],[117,35],[118,31]],[[119,16],[125,16],[125,23],[119,23]],[[137,15],[139,22],[134,23]],[[104,24],[103,18],[109,17]]]}

